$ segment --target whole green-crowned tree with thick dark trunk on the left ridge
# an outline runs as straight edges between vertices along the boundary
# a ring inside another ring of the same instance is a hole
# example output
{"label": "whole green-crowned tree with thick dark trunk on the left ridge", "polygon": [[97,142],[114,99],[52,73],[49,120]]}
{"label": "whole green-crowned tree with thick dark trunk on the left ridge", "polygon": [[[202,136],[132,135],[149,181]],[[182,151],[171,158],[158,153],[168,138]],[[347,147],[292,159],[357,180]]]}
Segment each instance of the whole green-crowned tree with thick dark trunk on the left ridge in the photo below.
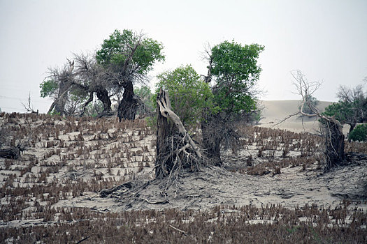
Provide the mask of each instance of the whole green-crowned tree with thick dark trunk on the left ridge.
{"label": "whole green-crowned tree with thick dark trunk on the left ridge", "polygon": [[96,52],[98,63],[112,70],[117,77],[113,86],[124,89],[117,109],[120,120],[135,119],[139,100],[134,93],[134,83],[147,79],[146,75],[156,61],[164,61],[162,49],[161,43],[145,38],[143,34],[115,30]]}

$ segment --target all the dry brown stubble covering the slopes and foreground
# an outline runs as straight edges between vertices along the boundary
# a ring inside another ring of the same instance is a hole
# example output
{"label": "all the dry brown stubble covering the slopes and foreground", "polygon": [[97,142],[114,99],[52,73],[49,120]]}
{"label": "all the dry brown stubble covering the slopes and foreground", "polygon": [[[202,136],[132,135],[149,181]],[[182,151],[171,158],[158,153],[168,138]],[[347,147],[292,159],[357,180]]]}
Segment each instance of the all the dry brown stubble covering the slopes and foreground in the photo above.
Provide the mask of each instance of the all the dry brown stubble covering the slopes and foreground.
{"label": "all the dry brown stubble covering the slopes and foreground", "polygon": [[[161,211],[119,213],[73,206],[78,201],[92,203],[101,191],[132,184],[142,175],[154,178],[154,132],[146,122],[1,113],[0,123],[1,135],[6,131],[1,142],[27,139],[20,158],[0,159],[1,243],[77,243],[85,238],[92,243],[366,242],[366,212],[347,201],[336,208],[217,205],[180,211],[164,205]],[[317,135],[247,125],[238,125],[238,130],[245,135],[239,154],[246,151],[250,156],[230,167],[234,154],[223,152],[224,167],[231,171],[276,179],[289,169],[315,171],[322,162],[323,140]],[[366,145],[346,142],[345,152],[367,153]],[[361,184],[365,182],[361,178]],[[117,192],[109,192],[119,199]],[[127,194],[147,204],[159,202],[132,190]]]}

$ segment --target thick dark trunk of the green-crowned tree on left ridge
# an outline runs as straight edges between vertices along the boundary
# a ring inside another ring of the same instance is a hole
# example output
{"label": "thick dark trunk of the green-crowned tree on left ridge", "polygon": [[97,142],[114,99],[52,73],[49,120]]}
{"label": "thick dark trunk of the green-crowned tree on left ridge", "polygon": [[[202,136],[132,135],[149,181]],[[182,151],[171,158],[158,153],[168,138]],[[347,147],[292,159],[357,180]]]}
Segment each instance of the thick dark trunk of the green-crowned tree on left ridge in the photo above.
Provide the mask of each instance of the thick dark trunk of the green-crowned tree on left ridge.
{"label": "thick dark trunk of the green-crowned tree on left ridge", "polygon": [[132,82],[124,84],[124,93],[117,109],[119,120],[129,119],[134,120],[136,116],[137,101],[134,98],[134,86]]}

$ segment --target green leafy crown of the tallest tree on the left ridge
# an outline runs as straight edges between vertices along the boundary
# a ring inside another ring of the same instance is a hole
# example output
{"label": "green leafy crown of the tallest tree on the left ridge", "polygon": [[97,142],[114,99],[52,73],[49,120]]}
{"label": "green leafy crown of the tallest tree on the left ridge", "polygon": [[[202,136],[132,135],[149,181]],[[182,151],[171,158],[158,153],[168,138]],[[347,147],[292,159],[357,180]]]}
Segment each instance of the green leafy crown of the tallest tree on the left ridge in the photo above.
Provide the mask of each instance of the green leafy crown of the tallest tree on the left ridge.
{"label": "green leafy crown of the tallest tree on the left ridge", "polygon": [[101,49],[96,52],[96,60],[103,65],[113,64],[122,68],[135,47],[136,51],[131,57],[134,62],[129,63],[138,67],[134,70],[136,73],[146,75],[155,61],[164,61],[161,43],[151,38],[142,38],[126,29],[122,33],[116,29],[110,38],[103,40]]}

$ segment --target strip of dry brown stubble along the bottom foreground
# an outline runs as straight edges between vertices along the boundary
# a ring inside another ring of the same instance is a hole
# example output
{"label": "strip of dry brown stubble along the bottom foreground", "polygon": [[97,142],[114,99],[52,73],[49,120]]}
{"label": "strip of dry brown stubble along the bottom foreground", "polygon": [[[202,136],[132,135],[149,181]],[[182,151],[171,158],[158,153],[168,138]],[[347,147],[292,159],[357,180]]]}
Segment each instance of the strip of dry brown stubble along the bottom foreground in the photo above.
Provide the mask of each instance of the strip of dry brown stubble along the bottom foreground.
{"label": "strip of dry brown stubble along the bottom foreground", "polygon": [[[316,205],[215,206],[207,211],[126,211],[40,207],[24,213],[52,225],[6,227],[2,241],[17,243],[366,243],[366,213]],[[57,216],[56,218],[54,216]],[[305,221],[300,221],[305,218]],[[347,219],[350,224],[344,224]],[[251,224],[257,221],[256,224]],[[3,229],[3,227],[1,227]],[[256,233],[256,234],[254,234]]]}

